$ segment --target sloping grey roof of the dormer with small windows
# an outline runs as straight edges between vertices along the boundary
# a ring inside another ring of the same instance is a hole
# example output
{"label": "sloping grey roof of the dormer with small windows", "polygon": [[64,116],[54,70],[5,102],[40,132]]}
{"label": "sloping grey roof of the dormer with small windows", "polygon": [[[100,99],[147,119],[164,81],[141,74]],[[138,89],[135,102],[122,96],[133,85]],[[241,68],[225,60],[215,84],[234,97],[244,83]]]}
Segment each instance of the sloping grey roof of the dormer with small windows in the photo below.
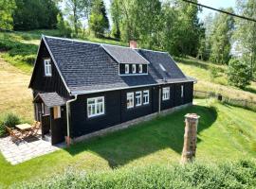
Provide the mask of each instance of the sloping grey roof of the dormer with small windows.
{"label": "sloping grey roof of the dormer with small windows", "polygon": [[141,57],[133,48],[109,44],[101,44],[101,46],[111,57],[113,57],[113,59],[117,60],[119,63],[149,63],[148,60]]}

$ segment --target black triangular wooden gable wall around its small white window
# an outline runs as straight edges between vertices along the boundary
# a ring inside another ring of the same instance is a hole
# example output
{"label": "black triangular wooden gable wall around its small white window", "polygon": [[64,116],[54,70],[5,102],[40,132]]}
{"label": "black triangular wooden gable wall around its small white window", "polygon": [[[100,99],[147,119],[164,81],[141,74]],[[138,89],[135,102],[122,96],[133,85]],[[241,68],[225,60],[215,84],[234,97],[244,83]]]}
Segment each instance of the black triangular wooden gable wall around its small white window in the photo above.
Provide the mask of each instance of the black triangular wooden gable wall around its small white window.
{"label": "black triangular wooden gable wall around its small white window", "polygon": [[45,76],[44,59],[50,59],[49,52],[46,49],[46,44],[42,42],[38,53],[38,59],[35,64],[34,73],[31,79],[30,87],[34,91],[34,95],[38,92],[57,92],[61,96],[68,98],[69,94],[64,86],[64,82],[51,59],[52,76]]}

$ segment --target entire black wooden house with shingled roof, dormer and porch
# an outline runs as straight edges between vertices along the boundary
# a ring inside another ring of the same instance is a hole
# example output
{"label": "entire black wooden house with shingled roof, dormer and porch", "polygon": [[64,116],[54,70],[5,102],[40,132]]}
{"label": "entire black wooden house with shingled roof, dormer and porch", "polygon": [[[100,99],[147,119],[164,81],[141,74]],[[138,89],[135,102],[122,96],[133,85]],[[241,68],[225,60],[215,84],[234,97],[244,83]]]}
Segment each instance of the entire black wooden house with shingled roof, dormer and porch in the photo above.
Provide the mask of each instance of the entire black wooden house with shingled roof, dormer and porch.
{"label": "entire black wooden house with shingled roof, dormer and porch", "polygon": [[193,82],[167,52],[43,36],[29,88],[57,144],[190,104]]}

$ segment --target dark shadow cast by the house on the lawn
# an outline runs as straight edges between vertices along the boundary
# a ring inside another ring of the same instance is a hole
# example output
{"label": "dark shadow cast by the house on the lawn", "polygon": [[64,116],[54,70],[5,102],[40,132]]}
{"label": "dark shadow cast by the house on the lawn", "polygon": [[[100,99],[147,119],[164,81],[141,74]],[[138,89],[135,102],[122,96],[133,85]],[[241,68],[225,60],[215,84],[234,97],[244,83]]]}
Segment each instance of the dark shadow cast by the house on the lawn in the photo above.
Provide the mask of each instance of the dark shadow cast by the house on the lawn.
{"label": "dark shadow cast by the house on the lawn", "polygon": [[134,128],[124,129],[77,144],[66,150],[73,156],[83,151],[99,154],[108,161],[112,168],[168,147],[181,154],[184,115],[188,112],[195,112],[201,116],[198,133],[210,128],[217,118],[217,111],[214,108],[192,106],[180,112],[174,112],[173,114],[141,123]]}

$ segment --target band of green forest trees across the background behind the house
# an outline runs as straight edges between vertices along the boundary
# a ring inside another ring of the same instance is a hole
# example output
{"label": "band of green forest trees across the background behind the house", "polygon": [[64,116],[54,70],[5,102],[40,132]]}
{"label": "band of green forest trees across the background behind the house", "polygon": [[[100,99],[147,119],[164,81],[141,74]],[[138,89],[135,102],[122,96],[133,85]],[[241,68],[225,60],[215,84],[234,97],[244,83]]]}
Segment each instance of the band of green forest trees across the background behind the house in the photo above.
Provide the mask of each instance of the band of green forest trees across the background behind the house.
{"label": "band of green forest trees across the background behind the house", "polygon": [[[197,2],[197,0],[193,0]],[[254,0],[237,0],[229,12],[256,18]],[[182,0],[0,0],[0,28],[59,29],[60,36],[110,38],[229,65],[229,83],[245,88],[256,73],[256,23],[228,14],[208,15]],[[111,20],[111,21],[110,21]],[[110,25],[111,23],[111,25]]]}

